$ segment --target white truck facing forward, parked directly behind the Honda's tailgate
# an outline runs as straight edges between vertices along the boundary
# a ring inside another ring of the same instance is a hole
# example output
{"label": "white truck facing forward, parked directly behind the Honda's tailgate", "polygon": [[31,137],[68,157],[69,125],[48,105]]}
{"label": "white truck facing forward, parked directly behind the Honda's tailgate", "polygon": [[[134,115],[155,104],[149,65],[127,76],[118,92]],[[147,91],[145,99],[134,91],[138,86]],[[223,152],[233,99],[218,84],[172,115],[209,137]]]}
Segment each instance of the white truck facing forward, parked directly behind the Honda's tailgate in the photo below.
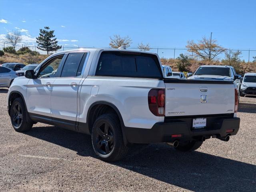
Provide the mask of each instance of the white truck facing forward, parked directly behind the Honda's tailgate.
{"label": "white truck facing forward, parked directly behind the Honda's tailgate", "polygon": [[240,82],[241,75],[236,74],[235,69],[232,66],[222,65],[202,65],[198,67],[193,76],[189,79],[195,80],[225,80],[234,81],[238,91],[238,101],[240,99]]}

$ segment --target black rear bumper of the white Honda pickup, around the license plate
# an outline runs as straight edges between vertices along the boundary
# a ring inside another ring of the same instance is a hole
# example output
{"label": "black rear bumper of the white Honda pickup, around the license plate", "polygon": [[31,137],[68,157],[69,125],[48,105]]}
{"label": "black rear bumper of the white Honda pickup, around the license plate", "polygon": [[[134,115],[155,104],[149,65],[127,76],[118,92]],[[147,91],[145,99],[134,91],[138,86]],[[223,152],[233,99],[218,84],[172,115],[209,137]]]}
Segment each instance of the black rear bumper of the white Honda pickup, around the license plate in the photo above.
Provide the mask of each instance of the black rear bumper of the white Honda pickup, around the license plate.
{"label": "black rear bumper of the white Honda pickup, around the license plate", "polygon": [[[226,135],[236,135],[239,130],[240,118],[214,118],[210,119],[210,126],[202,129],[192,129],[189,119],[184,121],[173,119],[170,122],[159,122],[151,129],[125,127],[124,134],[129,143],[162,143],[162,142],[187,142],[205,138],[225,137]],[[207,118],[208,120],[208,118]],[[233,130],[227,133],[226,130]],[[172,138],[171,135],[182,134],[182,137]]]}

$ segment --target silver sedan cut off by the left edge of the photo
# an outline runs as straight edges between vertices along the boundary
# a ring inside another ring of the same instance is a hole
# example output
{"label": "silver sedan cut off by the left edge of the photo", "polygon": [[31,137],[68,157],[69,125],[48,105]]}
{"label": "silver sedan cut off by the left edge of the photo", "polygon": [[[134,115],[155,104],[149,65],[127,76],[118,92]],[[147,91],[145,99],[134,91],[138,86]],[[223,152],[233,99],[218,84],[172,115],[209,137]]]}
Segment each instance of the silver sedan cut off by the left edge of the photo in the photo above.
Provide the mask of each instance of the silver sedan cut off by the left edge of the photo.
{"label": "silver sedan cut off by the left edge of the photo", "polygon": [[0,66],[0,87],[10,87],[18,74],[7,67]]}

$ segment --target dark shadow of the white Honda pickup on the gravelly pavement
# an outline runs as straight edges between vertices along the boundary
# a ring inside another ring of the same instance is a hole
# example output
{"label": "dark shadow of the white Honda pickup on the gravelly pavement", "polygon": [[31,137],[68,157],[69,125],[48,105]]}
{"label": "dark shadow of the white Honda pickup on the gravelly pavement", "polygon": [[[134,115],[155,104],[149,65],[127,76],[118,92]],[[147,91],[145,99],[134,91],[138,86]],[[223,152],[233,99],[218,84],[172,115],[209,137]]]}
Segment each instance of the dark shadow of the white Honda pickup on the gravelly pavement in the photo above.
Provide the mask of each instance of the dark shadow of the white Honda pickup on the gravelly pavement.
{"label": "dark shadow of the white Honda pickup on the gravelly pavement", "polygon": [[[88,135],[54,126],[34,127],[26,134],[96,158]],[[111,164],[193,191],[254,191],[256,187],[252,164],[198,151],[182,153],[166,144],[136,145],[124,160]]]}

